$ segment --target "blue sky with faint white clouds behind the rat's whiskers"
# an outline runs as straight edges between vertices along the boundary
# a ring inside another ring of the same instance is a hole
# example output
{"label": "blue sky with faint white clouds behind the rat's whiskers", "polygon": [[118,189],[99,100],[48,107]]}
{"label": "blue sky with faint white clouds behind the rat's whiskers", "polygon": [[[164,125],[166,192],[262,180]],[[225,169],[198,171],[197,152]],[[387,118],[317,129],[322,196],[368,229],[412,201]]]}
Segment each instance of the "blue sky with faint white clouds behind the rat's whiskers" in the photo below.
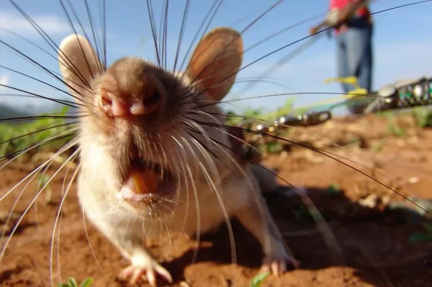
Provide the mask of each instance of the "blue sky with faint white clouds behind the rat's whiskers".
{"label": "blue sky with faint white clouds behind the rat's whiskers", "polygon": [[[74,3],[74,8],[80,15],[80,19],[86,27],[86,32],[90,32],[83,1],[73,0],[71,2]],[[91,4],[92,14],[96,20],[99,21],[97,5],[99,1],[88,2]],[[180,59],[183,59],[184,54],[189,48],[189,44],[193,40],[212,2],[213,1],[210,0],[191,1],[190,13],[180,51]],[[225,0],[218,14],[214,17],[210,28],[231,26],[242,30],[274,2],[275,1]],[[371,8],[373,12],[377,12],[411,2],[413,1],[378,0]],[[67,18],[61,10],[58,1],[16,0],[16,3],[40,24],[56,44],[71,33]],[[153,9],[155,9],[158,29],[160,26],[162,3],[162,0],[153,0]],[[177,49],[177,39],[184,3],[185,1],[179,0],[170,1],[167,37],[169,67],[172,67],[172,60]],[[327,6],[328,1],[324,0],[286,0],[243,33],[245,49],[274,32],[314,15],[324,13],[327,10]],[[424,75],[430,76],[432,74],[432,39],[427,37],[430,35],[430,27],[432,27],[430,11],[432,11],[432,3],[425,3],[383,12],[374,16],[374,88],[399,79],[415,78]],[[144,0],[107,0],[107,20],[107,53],[109,62],[122,56],[140,56],[148,60],[155,60],[155,49],[152,43]],[[247,65],[277,48],[305,37],[308,28],[320,20],[321,18],[317,18],[308,23],[299,25],[247,51],[244,54],[243,65]],[[74,21],[74,23],[76,23],[76,21]],[[100,31],[101,25],[97,24],[97,26],[97,29]],[[50,46],[36,33],[34,28],[29,25],[7,1],[2,1],[0,3],[0,27],[12,30],[48,50],[50,53],[55,54]],[[81,30],[78,31],[81,32]],[[32,59],[43,63],[45,67],[58,71],[58,66],[54,59],[5,30],[0,29],[0,39],[24,52]],[[246,67],[239,73],[238,79],[262,77],[262,74],[268,68],[274,67],[278,60],[288,55],[303,43],[304,41],[292,45],[287,49]],[[334,47],[334,38],[327,39],[326,37],[321,37],[321,39],[317,40],[317,42],[302,51],[292,60],[275,69],[271,75],[266,75],[266,77],[269,77],[267,80],[276,81],[284,86],[259,83],[255,84],[251,89],[244,91],[245,86],[250,84],[239,83],[234,86],[229,98],[289,92],[341,92],[340,86],[337,84],[323,84],[325,78],[334,77],[336,75]],[[61,84],[44,74],[39,68],[16,56],[1,44],[0,64],[40,80],[47,81],[56,87],[64,88]],[[2,68],[0,68],[0,83],[7,83],[10,86],[45,96],[64,97],[64,95],[46,85],[26,79],[23,76]],[[12,91],[7,89],[2,89],[0,91],[0,93],[9,92]],[[330,97],[334,96],[298,95],[296,96],[295,103],[296,106],[302,106]],[[283,104],[287,98],[288,96],[281,96],[245,100],[236,102],[236,105],[240,107],[262,106],[266,110],[272,110],[274,107]],[[31,98],[0,96],[0,101],[11,105],[19,105],[21,107],[35,105],[39,107],[49,106],[46,100]]]}

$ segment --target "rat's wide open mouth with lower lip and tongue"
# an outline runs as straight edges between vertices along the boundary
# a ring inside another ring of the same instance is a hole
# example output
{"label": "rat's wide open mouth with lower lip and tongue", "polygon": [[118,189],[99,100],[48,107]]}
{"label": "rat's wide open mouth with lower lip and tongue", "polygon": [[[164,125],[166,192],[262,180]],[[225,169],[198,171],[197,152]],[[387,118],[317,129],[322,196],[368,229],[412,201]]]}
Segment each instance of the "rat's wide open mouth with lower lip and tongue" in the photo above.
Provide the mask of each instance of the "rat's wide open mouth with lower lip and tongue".
{"label": "rat's wide open mouth with lower lip and tongue", "polygon": [[151,203],[157,197],[174,192],[172,174],[160,164],[134,159],[123,182],[120,194],[131,203]]}

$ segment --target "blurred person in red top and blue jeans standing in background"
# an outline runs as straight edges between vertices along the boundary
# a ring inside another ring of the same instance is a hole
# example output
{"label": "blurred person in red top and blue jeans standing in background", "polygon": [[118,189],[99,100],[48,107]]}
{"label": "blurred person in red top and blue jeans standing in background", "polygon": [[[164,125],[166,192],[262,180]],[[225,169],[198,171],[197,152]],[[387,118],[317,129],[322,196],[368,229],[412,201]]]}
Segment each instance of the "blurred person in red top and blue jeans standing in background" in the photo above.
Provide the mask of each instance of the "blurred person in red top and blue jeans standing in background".
{"label": "blurred person in red top and blue jeans standing in background", "polygon": [[[341,78],[355,76],[358,85],[371,91],[373,71],[373,23],[367,0],[330,0],[330,10],[326,19],[310,29],[317,33],[323,26],[334,27],[337,53],[337,76]],[[342,84],[345,93],[353,90],[349,84]],[[361,96],[355,96],[348,109],[353,114],[361,113],[368,102],[374,98],[363,97],[362,103],[352,104]],[[366,100],[366,103],[363,101]]]}

